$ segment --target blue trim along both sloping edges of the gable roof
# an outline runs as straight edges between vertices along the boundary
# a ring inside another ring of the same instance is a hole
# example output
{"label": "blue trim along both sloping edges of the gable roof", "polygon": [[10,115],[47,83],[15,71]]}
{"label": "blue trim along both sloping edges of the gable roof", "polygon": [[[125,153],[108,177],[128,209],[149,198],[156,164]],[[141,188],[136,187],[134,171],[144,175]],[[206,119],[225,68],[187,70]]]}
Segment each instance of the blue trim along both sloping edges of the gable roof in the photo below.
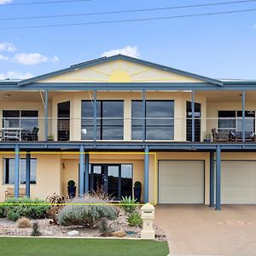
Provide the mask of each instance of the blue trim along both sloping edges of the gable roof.
{"label": "blue trim along both sloping edges of the gable roof", "polygon": [[115,61],[115,60],[131,61],[133,63],[138,63],[138,64],[148,66],[148,67],[154,67],[154,68],[166,71],[166,72],[181,74],[181,75],[190,77],[192,79],[199,79],[199,80],[202,80],[202,81],[210,83],[210,84],[223,85],[223,82],[218,79],[210,79],[210,78],[207,78],[207,77],[204,77],[201,75],[197,75],[195,73],[185,72],[185,71],[182,71],[182,70],[179,70],[176,68],[166,67],[166,66],[159,65],[159,64],[156,64],[153,62],[139,60],[139,59],[136,59],[136,58],[133,58],[130,56],[126,56],[126,55],[113,55],[110,57],[103,57],[103,58],[99,58],[99,59],[92,60],[92,61],[85,61],[83,63],[79,63],[79,64],[73,65],[71,67],[67,67],[67,68],[52,72],[52,73],[46,73],[44,75],[40,75],[40,76],[34,77],[32,79],[22,80],[22,81],[18,82],[18,85],[21,86],[21,85],[25,85],[25,84],[32,84],[32,83],[38,82],[39,80],[49,79],[56,75],[76,71],[80,68],[96,66],[96,65],[108,62],[108,61]]}

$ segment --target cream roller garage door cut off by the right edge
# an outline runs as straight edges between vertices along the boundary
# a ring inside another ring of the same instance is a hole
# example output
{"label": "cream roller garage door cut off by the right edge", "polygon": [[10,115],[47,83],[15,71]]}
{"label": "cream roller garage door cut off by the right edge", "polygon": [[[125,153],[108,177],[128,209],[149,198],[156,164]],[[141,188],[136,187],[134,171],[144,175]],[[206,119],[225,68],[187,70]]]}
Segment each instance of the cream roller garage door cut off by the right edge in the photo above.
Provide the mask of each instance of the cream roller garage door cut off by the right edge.
{"label": "cream roller garage door cut off by the right edge", "polygon": [[256,204],[256,161],[222,161],[221,202]]}

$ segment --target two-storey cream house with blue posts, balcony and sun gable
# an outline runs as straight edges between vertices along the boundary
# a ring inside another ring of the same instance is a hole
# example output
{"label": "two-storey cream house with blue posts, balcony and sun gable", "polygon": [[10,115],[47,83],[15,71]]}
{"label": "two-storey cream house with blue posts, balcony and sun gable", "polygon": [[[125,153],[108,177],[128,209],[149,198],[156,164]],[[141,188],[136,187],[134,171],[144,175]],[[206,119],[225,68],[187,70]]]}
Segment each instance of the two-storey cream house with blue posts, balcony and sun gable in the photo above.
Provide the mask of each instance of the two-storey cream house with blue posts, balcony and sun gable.
{"label": "two-storey cream house with blue posts, balcony and sun gable", "polygon": [[125,55],[0,81],[0,201],[77,195],[256,203],[256,81],[210,79]]}

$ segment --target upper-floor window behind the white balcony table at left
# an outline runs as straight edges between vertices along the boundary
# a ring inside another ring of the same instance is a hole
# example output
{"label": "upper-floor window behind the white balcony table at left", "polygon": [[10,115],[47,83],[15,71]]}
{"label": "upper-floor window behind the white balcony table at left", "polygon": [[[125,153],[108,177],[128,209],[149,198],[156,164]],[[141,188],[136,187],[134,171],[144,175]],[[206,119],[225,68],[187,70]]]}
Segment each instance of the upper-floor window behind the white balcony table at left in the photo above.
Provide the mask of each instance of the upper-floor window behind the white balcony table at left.
{"label": "upper-floor window behind the white balcony table at left", "polygon": [[38,127],[38,110],[3,110],[3,128],[31,131]]}

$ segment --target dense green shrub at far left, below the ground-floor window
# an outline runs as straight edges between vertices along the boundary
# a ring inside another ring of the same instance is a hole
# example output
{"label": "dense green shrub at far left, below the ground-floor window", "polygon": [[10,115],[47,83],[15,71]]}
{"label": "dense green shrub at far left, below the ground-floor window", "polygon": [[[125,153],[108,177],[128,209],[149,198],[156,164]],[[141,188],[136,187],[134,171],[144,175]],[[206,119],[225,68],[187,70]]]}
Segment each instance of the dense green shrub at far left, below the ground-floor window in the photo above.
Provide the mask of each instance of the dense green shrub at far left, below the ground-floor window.
{"label": "dense green shrub at far left, below the ground-floor window", "polygon": [[[3,214],[9,220],[16,221],[18,218],[45,218],[50,206],[44,205],[45,201],[29,199],[26,197],[15,199],[10,198],[5,201],[8,205],[3,205]],[[41,205],[40,205],[41,204]],[[42,205],[43,204],[43,205]]]}

